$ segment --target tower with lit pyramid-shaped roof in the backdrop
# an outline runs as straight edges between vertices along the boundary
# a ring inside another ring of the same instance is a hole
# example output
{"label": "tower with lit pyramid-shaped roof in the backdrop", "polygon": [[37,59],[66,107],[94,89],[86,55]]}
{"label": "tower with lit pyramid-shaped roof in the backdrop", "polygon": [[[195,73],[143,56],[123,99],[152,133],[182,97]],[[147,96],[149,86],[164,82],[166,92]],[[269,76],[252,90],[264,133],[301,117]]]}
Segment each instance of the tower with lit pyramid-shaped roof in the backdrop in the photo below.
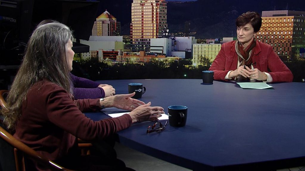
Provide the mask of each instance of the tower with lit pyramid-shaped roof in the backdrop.
{"label": "tower with lit pyramid-shaped roof in the backdrop", "polygon": [[121,23],[107,10],[96,18],[92,36],[120,36]]}

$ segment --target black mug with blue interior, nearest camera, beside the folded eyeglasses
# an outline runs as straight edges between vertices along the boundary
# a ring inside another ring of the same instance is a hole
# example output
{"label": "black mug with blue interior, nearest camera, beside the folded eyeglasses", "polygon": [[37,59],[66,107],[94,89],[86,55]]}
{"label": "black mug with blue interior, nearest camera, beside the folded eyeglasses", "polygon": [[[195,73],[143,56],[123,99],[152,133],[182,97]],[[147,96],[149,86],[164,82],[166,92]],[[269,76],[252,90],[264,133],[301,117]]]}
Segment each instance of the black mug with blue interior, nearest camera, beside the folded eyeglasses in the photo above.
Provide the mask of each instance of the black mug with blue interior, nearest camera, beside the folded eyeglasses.
{"label": "black mug with blue interior, nearest camera, beside the folded eyeglasses", "polygon": [[168,120],[172,127],[184,127],[188,115],[188,107],[181,105],[168,106]]}

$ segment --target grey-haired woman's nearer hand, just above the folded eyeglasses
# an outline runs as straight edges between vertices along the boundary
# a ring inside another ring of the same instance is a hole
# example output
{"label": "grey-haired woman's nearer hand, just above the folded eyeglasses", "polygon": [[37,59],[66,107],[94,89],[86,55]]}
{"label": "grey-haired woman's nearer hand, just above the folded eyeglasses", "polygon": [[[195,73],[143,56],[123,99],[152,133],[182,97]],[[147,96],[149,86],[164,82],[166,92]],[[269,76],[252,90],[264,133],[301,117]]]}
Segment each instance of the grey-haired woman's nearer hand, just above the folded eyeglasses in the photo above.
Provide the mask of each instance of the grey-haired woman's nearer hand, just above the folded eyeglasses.
{"label": "grey-haired woman's nearer hand, just above the folded eyeglasses", "polygon": [[160,106],[150,106],[151,103],[147,103],[141,106],[138,106],[132,110],[129,115],[131,116],[132,123],[142,122],[142,121],[156,121],[158,117],[161,117],[161,113],[164,113],[164,109]]}

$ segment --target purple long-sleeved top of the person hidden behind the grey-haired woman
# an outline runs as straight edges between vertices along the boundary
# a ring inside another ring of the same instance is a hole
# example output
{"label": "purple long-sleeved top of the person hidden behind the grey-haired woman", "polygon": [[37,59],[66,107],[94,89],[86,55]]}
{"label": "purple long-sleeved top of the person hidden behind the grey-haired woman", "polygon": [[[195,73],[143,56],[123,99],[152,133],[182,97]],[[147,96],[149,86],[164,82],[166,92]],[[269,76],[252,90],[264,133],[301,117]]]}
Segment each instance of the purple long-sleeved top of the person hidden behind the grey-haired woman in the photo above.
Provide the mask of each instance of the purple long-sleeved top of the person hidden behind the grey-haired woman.
{"label": "purple long-sleeved top of the person hidden behind the grey-haired woman", "polygon": [[105,92],[100,83],[77,77],[70,73],[71,81],[73,83],[73,96],[74,99],[97,99],[105,97]]}

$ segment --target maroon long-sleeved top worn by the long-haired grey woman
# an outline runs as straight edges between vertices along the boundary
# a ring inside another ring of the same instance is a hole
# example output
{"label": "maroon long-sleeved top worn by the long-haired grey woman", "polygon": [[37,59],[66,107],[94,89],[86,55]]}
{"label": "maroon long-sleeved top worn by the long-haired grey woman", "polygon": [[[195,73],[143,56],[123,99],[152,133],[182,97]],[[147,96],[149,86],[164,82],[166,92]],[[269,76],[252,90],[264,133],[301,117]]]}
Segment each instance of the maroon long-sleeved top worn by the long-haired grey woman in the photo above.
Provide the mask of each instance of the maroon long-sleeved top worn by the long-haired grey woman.
{"label": "maroon long-sleeved top worn by the long-haired grey woman", "polygon": [[129,127],[131,117],[93,121],[82,112],[100,109],[99,99],[73,101],[62,87],[41,81],[34,84],[22,103],[14,137],[53,161],[74,153],[77,138],[98,140]]}

